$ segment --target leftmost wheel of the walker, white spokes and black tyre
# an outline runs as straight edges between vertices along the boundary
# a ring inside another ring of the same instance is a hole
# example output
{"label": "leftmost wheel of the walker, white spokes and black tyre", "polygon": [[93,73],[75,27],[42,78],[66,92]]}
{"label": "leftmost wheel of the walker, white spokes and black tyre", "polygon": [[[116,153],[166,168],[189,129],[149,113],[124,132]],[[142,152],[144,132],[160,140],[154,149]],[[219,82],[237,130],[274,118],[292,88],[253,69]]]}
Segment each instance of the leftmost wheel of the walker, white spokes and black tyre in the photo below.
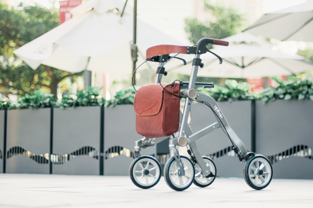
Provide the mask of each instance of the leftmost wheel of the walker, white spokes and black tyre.
{"label": "leftmost wheel of the walker, white spokes and black tyre", "polygon": [[154,157],[147,155],[137,157],[131,163],[129,176],[139,188],[151,188],[160,181],[161,165]]}

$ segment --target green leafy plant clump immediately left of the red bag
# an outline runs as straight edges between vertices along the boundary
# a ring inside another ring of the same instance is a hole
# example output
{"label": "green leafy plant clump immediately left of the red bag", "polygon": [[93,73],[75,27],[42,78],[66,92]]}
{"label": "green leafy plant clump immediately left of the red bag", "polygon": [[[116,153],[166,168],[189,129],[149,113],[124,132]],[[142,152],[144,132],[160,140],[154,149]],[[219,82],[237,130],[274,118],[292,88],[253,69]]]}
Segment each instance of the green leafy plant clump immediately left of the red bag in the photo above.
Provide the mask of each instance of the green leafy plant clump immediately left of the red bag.
{"label": "green leafy plant clump immediately left of the red bag", "polygon": [[134,104],[136,91],[133,88],[124,89],[116,93],[114,99],[108,100],[106,107],[114,107],[121,104]]}

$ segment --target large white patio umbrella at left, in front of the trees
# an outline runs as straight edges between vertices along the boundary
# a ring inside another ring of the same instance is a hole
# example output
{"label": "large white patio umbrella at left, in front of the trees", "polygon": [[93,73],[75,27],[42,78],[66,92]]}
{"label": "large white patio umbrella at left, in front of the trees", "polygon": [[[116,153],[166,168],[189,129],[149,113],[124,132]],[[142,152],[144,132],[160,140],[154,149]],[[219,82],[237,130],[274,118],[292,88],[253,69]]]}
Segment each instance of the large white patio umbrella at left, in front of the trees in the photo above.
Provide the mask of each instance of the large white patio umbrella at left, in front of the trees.
{"label": "large white patio umbrella at left, in front of the trees", "polygon": [[[122,11],[124,4],[118,0],[87,1],[75,7],[72,19],[14,53],[34,70],[44,64],[69,72],[91,70],[114,75],[131,74],[133,15],[124,13],[121,17],[120,12],[112,10],[112,5],[117,5]],[[180,42],[138,19],[139,55],[158,44],[179,45]],[[138,61],[143,62],[144,56]]]}

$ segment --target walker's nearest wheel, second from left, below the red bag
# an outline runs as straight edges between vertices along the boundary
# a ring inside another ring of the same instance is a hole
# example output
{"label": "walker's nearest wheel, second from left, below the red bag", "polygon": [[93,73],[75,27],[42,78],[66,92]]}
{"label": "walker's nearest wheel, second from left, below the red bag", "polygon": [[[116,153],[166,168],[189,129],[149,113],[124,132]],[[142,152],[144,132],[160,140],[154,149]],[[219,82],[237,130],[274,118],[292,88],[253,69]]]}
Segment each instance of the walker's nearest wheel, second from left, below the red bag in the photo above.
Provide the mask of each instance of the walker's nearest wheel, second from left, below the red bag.
{"label": "walker's nearest wheel, second from left, below the red bag", "polygon": [[185,175],[180,174],[175,157],[170,158],[164,168],[164,179],[167,185],[175,191],[183,191],[191,186],[195,177],[195,168],[188,157],[180,156]]}

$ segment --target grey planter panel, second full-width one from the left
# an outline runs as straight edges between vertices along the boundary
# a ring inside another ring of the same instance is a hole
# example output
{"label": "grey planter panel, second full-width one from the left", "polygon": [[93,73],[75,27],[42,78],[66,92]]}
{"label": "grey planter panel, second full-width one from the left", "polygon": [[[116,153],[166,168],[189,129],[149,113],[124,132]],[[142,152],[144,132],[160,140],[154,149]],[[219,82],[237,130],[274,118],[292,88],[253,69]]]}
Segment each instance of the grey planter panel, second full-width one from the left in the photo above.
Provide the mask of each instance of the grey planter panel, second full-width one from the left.
{"label": "grey planter panel, second full-width one from the left", "polygon": [[52,173],[100,174],[100,109],[54,109]]}

